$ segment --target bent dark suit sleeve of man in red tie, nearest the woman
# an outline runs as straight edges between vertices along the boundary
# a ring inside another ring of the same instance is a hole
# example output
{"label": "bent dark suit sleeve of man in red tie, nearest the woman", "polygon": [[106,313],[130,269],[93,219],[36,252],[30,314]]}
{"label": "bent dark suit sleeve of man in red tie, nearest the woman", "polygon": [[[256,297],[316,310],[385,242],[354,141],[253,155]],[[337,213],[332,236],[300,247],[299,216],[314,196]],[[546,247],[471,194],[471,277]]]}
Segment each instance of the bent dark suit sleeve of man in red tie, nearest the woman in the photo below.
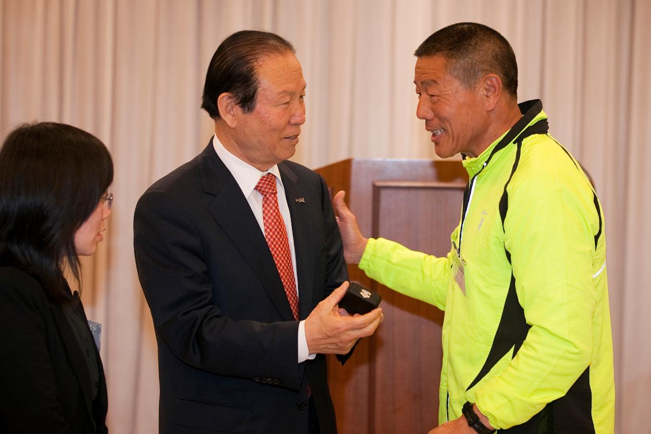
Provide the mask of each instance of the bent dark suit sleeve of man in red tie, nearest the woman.
{"label": "bent dark suit sleeve of man in red tie, nearest the woman", "polygon": [[138,276],[154,327],[176,357],[211,373],[268,377],[299,388],[298,322],[236,321],[223,315],[183,198],[148,190],[136,206],[133,233]]}

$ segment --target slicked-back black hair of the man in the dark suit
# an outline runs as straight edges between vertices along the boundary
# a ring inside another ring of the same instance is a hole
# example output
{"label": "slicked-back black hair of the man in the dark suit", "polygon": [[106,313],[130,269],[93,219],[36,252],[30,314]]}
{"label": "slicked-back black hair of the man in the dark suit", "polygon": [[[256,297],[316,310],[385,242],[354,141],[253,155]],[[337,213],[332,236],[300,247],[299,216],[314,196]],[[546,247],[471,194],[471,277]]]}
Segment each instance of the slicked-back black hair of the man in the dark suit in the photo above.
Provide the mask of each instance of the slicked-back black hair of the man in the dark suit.
{"label": "slicked-back black hair of the man in the dark suit", "polygon": [[296,53],[294,46],[275,33],[243,30],[223,40],[210,60],[201,108],[212,119],[219,119],[217,98],[225,92],[234,95],[244,113],[255,109],[258,91],[256,62],[274,54]]}

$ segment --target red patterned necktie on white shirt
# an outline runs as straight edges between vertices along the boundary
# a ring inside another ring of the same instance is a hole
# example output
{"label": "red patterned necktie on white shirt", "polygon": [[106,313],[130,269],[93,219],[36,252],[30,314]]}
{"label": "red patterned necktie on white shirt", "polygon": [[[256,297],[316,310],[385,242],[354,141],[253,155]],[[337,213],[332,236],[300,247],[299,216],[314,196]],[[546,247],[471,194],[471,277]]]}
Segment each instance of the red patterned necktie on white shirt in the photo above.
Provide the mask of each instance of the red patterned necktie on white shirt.
{"label": "red patterned necktie on white shirt", "polygon": [[267,239],[271,256],[278,268],[278,274],[283,281],[287,300],[292,308],[294,319],[298,320],[298,294],[294,280],[294,267],[292,267],[292,252],[289,250],[287,231],[285,229],[281,210],[278,208],[276,197],[276,177],[267,173],[255,189],[262,194],[262,220],[264,222],[264,238]]}

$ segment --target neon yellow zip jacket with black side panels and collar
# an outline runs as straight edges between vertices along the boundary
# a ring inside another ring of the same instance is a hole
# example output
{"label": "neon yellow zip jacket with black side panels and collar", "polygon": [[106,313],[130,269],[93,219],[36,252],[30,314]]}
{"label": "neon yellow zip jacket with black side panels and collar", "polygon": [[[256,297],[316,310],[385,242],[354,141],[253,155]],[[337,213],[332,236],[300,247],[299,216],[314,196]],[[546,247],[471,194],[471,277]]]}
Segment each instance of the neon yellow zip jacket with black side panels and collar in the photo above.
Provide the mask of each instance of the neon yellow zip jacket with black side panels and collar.
{"label": "neon yellow zip jacket with black side panels and collar", "polygon": [[471,182],[447,257],[370,239],[359,267],[445,311],[439,422],[470,401],[500,432],[611,434],[602,208],[570,153],[536,134],[546,132],[542,103],[520,109],[511,130],[463,162]]}

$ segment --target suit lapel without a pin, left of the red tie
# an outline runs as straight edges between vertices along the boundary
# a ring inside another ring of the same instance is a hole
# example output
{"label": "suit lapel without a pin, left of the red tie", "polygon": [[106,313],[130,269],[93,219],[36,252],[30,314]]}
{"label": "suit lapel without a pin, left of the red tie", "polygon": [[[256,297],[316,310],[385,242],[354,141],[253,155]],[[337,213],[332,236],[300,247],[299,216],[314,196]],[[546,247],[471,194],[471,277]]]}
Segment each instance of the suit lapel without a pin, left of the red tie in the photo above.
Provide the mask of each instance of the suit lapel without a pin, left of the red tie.
{"label": "suit lapel without a pin, left of the red tie", "polygon": [[253,268],[283,318],[292,321],[292,308],[264,234],[240,186],[217,156],[212,140],[199,158],[199,167],[204,191],[214,195],[208,210]]}

